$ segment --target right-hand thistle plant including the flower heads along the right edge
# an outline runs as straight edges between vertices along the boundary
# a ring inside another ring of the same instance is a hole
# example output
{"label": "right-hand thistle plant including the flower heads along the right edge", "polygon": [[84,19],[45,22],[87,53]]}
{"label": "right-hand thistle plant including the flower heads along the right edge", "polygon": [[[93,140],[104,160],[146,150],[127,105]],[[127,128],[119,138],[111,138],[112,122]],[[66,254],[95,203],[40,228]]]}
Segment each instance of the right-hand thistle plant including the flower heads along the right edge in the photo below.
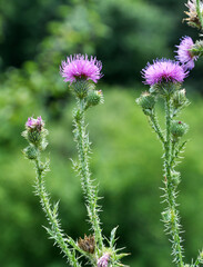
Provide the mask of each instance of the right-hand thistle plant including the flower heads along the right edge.
{"label": "right-hand thistle plant including the flower heads along the right edge", "polygon": [[[189,0],[185,13],[189,18],[187,23],[197,29],[203,29],[203,2],[200,0]],[[181,160],[186,139],[189,126],[180,119],[181,111],[189,106],[189,100],[183,88],[183,81],[189,76],[189,71],[194,68],[194,61],[202,56],[203,42],[197,40],[195,43],[190,37],[183,37],[177,47],[174,60],[154,60],[152,65],[142,70],[144,83],[150,86],[149,91],[141,95],[136,102],[141,106],[148,117],[150,126],[156,134],[163,147],[163,202],[165,204],[162,212],[162,221],[165,233],[170,235],[172,245],[173,261],[177,267],[199,267],[203,266],[203,251],[199,254],[196,260],[191,264],[184,263],[184,246],[181,236],[180,212],[177,210],[177,187],[181,182],[181,174],[176,166]],[[156,113],[159,101],[164,102],[164,129],[161,127]]]}

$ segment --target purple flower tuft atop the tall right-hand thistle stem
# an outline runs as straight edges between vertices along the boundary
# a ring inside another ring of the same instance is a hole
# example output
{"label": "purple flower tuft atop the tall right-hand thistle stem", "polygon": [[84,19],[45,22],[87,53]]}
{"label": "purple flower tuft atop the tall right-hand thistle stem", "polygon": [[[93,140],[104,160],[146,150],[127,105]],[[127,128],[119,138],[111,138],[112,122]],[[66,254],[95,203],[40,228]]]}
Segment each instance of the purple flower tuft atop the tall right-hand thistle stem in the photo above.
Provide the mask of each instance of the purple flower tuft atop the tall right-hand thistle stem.
{"label": "purple flower tuft atop the tall right-hand thistle stem", "polygon": [[148,63],[141,73],[145,79],[144,83],[153,86],[161,82],[183,82],[189,72],[179,62],[163,58],[154,60],[153,65]]}

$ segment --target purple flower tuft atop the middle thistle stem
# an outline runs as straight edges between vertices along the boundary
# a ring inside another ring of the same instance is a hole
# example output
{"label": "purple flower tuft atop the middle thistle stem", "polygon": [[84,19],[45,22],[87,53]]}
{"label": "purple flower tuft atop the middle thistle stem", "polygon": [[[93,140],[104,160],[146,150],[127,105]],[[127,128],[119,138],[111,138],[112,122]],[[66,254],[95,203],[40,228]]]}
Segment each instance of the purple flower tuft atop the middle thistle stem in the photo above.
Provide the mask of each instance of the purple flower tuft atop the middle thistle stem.
{"label": "purple flower tuft atop the middle thistle stem", "polygon": [[60,73],[64,77],[64,81],[73,82],[77,78],[83,78],[92,80],[95,83],[103,76],[101,73],[102,63],[97,58],[92,57],[88,59],[88,55],[74,55],[67,58],[67,61],[62,61],[60,67]]}

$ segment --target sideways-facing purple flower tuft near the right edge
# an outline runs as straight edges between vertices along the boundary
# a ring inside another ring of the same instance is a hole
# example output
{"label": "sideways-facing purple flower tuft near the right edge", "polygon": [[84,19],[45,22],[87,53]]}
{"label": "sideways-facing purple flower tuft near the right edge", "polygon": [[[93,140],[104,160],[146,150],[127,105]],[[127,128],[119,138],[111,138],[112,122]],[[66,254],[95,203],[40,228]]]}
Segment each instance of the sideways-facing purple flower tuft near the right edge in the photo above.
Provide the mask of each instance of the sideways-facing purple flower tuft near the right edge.
{"label": "sideways-facing purple flower tuft near the right edge", "polygon": [[183,68],[193,69],[194,68],[194,60],[197,59],[196,56],[193,56],[190,51],[194,46],[194,42],[191,37],[183,37],[181,39],[181,43],[177,47],[177,56],[175,58],[183,65]]}

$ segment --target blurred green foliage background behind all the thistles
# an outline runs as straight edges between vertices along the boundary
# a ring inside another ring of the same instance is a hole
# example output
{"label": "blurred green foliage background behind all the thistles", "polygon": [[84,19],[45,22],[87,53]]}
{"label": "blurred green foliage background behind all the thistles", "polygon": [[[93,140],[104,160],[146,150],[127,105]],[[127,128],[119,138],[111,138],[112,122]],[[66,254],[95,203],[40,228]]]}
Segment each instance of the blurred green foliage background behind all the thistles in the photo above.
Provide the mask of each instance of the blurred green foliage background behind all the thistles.
{"label": "blurred green foliage background behind all the thistles", "polygon": [[[89,111],[93,158],[100,184],[103,234],[119,225],[119,247],[131,267],[173,266],[160,212],[161,145],[134,99],[148,61],[174,57],[182,36],[197,39],[182,23],[184,0],[1,0],[0,2],[0,266],[63,267],[65,260],[47,237],[44,214],[33,195],[34,170],[22,156],[29,116],[42,115],[50,131],[51,172],[47,186],[60,199],[60,217],[73,238],[89,233],[85,207],[70,158],[74,100],[59,75],[70,53],[97,55],[104,77],[98,88],[105,102]],[[191,106],[181,116],[190,125],[184,162],[179,166],[185,258],[203,247],[203,62],[185,81]],[[161,108],[160,108],[161,109]]]}

